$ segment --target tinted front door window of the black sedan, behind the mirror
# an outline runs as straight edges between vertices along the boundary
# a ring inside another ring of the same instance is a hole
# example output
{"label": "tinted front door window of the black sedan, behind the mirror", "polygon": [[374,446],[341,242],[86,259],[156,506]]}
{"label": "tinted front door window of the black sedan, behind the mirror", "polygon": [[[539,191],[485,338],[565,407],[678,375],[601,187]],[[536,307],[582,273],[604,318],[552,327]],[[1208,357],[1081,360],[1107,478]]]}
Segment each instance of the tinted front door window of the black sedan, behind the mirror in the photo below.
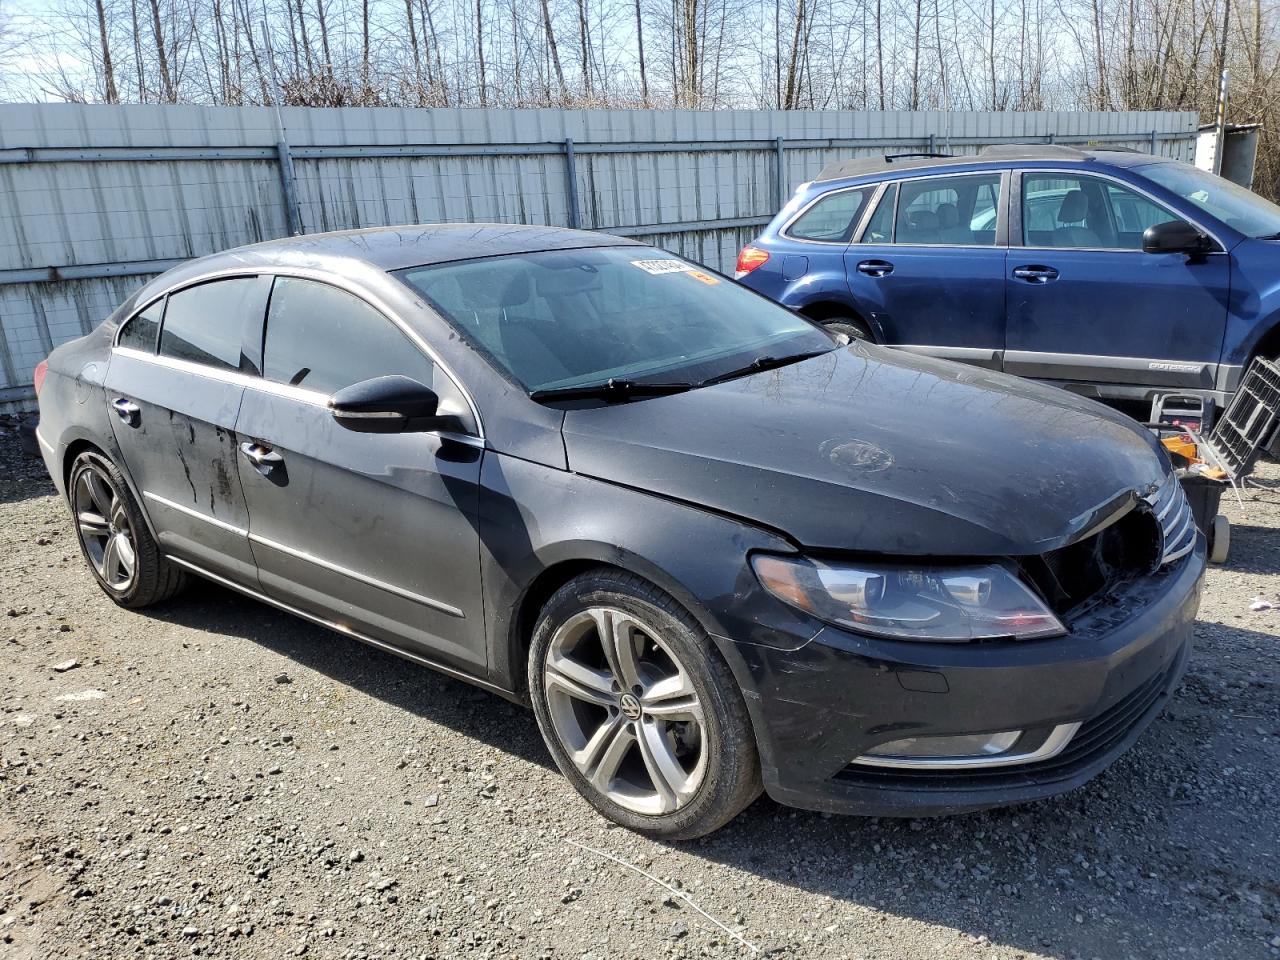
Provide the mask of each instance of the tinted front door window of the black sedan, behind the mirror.
{"label": "tinted front door window of the black sedan, behind the mirror", "polygon": [[319,393],[401,374],[433,387],[434,365],[374,307],[315,280],[279,276],[271,288],[264,376]]}

